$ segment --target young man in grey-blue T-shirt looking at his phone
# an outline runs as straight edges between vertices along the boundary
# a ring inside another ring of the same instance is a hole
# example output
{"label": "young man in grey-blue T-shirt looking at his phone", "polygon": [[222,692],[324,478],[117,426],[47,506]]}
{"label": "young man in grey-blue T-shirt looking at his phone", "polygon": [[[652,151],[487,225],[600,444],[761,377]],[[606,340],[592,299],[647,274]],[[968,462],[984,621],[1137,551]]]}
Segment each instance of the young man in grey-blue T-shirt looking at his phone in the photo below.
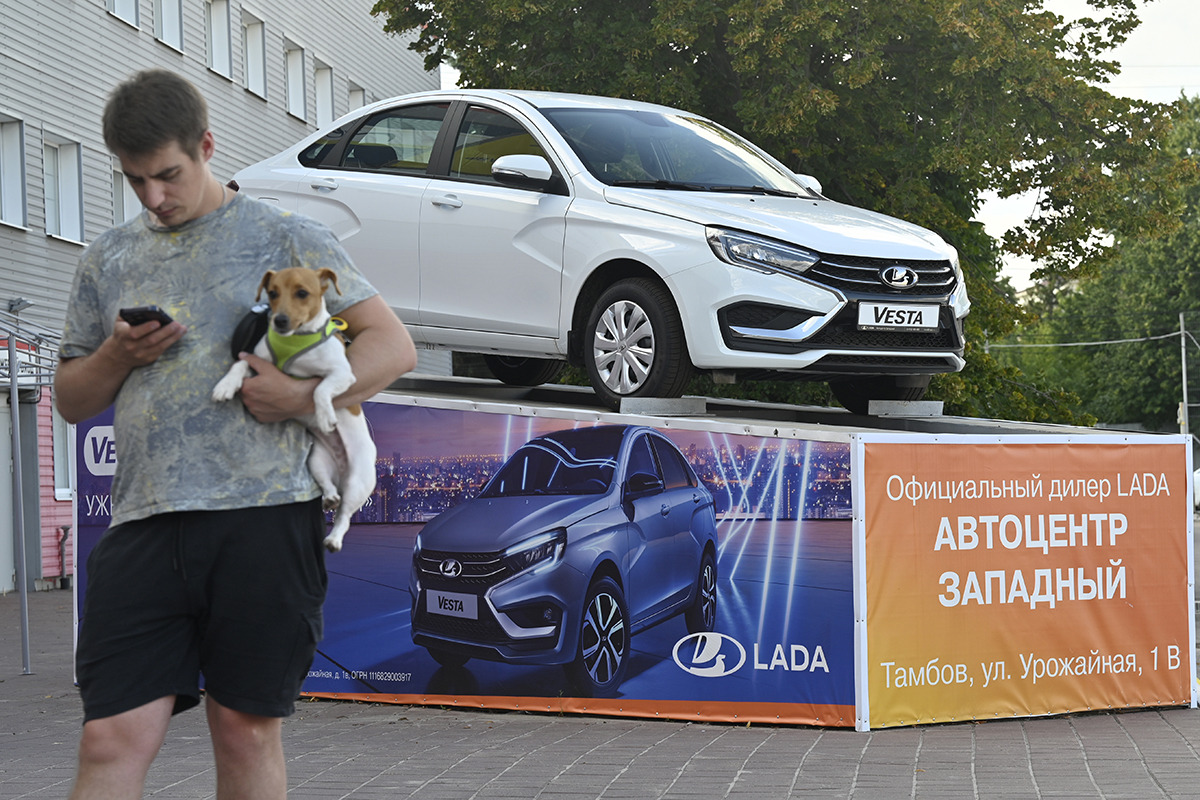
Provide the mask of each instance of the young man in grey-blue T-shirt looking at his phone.
{"label": "young man in grey-blue T-shirt looking at his phone", "polygon": [[[323,225],[228,190],[199,91],[161,70],[118,86],[104,142],[145,211],[84,252],[54,395],[80,422],[114,409],[113,521],[88,561],[77,675],[84,703],[72,798],[140,798],[172,714],[199,703],[217,796],[283,798],[282,717],[322,636],[325,535],[308,474],[316,379],[253,355],[242,403],[215,403],[230,336],[266,270],[332,269],[370,398],[415,365],[403,325]],[[156,305],[168,325],[119,309]]]}

